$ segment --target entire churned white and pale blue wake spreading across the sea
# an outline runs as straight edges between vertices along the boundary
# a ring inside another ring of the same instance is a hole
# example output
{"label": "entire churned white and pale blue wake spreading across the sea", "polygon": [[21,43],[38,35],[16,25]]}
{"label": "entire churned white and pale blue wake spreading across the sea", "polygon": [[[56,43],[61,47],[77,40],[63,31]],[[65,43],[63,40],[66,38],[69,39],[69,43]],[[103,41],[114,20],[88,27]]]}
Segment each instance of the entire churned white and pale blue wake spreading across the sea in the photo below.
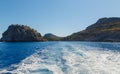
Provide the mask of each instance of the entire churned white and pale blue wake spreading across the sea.
{"label": "entire churned white and pale blue wake spreading across the sea", "polygon": [[[23,53],[24,54],[24,53]],[[107,48],[58,43],[36,50],[12,74],[120,74],[120,53]]]}

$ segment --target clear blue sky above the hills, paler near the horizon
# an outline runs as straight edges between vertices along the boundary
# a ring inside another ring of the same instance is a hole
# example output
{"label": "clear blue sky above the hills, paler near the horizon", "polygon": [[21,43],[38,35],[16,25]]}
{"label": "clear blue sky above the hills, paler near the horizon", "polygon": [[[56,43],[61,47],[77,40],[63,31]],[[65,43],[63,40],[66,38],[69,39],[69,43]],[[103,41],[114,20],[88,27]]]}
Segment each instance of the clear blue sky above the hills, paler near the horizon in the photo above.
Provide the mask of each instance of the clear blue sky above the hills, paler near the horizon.
{"label": "clear blue sky above the hills, paler near the horizon", "polygon": [[103,17],[120,17],[120,0],[0,0],[0,36],[23,24],[63,37]]}

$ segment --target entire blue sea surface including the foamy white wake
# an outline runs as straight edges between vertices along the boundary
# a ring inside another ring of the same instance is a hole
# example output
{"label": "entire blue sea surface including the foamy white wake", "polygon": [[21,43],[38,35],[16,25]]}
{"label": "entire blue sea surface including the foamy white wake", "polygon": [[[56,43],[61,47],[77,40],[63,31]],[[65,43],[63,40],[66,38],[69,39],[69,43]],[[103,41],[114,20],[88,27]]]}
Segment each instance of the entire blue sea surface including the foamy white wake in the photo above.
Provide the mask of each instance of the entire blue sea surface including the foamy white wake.
{"label": "entire blue sea surface including the foamy white wake", "polygon": [[120,43],[1,42],[0,74],[120,74]]}

